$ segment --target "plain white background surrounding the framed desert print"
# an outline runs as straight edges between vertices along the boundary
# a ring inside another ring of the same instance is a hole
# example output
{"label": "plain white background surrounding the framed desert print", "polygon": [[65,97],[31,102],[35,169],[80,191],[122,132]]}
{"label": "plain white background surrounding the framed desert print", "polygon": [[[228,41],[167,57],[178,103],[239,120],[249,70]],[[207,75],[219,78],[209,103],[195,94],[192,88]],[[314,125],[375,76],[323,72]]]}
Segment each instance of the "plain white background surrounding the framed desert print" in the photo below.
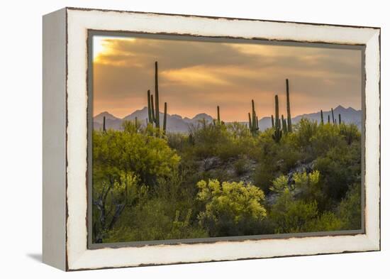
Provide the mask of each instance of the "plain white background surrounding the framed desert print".
{"label": "plain white background surrounding the framed desert print", "polygon": [[[0,278],[389,278],[387,1],[3,1],[0,8]],[[381,27],[382,251],[63,273],[40,263],[42,19],[64,6]],[[23,277],[22,277],[23,276]],[[39,277],[38,277],[39,276]]]}

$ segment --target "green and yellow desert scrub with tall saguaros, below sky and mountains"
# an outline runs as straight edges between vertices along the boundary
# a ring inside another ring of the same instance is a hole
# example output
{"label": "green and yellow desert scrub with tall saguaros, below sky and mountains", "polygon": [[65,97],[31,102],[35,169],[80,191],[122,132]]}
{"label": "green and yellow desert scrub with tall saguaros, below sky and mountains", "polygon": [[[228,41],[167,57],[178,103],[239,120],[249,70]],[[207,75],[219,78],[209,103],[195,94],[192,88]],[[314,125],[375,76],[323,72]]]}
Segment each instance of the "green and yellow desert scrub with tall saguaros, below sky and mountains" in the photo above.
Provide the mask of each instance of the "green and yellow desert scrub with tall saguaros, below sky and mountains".
{"label": "green and yellow desert scrub with tall saguaros, below sky and mountains", "polygon": [[214,121],[171,133],[156,62],[148,119],[92,132],[94,243],[360,229],[359,129],[322,111],[293,125],[289,80],[286,97],[264,131],[249,100],[247,124],[217,105]]}

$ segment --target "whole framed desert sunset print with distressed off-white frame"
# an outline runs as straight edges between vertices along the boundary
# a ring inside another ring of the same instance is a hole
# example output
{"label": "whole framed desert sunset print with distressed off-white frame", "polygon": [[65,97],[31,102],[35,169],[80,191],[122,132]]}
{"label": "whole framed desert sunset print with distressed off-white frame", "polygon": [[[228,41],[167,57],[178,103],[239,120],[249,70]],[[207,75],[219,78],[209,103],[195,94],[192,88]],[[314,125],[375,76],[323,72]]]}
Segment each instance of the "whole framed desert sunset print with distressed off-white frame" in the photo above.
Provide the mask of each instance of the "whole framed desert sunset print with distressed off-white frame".
{"label": "whole framed desert sunset print with distressed off-white frame", "polygon": [[43,17],[43,261],[380,249],[380,29]]}

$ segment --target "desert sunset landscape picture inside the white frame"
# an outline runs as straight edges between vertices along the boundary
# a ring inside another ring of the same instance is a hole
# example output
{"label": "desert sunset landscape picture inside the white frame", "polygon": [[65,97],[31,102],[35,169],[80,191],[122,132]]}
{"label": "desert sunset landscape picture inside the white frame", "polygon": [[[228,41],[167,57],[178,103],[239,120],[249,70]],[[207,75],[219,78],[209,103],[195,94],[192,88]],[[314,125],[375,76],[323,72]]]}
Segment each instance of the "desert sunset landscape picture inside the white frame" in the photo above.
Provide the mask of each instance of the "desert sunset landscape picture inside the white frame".
{"label": "desert sunset landscape picture inside the white frame", "polygon": [[362,50],[94,35],[91,241],[362,229]]}

